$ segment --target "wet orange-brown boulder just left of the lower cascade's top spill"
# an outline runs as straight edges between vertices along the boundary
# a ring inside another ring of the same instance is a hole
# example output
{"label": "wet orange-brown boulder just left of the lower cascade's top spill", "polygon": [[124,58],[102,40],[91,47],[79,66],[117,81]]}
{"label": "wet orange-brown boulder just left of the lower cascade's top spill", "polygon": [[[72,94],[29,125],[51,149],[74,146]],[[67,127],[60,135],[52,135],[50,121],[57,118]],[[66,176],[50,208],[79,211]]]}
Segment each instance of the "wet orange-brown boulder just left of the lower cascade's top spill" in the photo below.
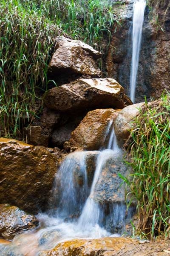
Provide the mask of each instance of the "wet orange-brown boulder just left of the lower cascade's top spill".
{"label": "wet orange-brown boulder just left of the lower cascade's top spill", "polygon": [[69,144],[83,150],[98,150],[105,145],[108,126],[116,117],[113,109],[96,109],[87,113],[72,132]]}

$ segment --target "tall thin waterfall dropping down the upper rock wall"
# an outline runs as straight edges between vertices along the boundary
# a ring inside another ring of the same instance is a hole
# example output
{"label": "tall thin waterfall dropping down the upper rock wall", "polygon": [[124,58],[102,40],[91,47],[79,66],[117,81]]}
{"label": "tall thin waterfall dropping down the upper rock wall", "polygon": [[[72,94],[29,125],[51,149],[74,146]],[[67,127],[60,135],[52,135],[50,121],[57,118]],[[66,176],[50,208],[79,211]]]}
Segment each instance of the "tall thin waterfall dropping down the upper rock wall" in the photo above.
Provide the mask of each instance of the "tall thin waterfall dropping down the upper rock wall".
{"label": "tall thin waterfall dropping down the upper rock wall", "polygon": [[142,40],[142,27],[146,0],[133,3],[132,62],[130,70],[130,99],[135,102],[136,78],[139,66],[139,54]]}

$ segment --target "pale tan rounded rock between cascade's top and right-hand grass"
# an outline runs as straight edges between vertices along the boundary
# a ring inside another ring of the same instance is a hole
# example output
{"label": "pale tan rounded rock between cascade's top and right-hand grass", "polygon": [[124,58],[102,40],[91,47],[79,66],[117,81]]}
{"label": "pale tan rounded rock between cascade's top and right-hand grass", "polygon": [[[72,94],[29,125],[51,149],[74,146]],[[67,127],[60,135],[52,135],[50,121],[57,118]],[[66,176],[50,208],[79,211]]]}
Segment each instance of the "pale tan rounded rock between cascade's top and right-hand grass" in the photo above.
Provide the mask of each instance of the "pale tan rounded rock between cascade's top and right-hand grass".
{"label": "pale tan rounded rock between cascade's top and right-hand grass", "polygon": [[114,128],[117,138],[117,143],[120,147],[123,146],[125,141],[130,135],[130,130],[133,128],[133,120],[139,114],[139,109],[144,103],[136,103],[119,111],[116,116]]}

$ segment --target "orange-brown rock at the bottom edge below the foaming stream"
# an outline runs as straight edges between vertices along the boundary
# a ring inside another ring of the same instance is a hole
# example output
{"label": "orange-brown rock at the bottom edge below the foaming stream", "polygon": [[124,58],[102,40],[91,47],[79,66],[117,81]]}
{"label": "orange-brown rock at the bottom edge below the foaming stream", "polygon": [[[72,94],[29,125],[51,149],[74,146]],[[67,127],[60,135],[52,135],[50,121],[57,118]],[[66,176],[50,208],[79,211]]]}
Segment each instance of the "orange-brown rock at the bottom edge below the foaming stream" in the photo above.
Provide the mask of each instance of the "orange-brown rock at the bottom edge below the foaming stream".
{"label": "orange-brown rock at the bottom edge below the foaming stream", "polygon": [[[138,241],[123,237],[105,237],[101,239],[74,239],[58,244],[44,256],[112,256],[122,248],[137,245]],[[116,254],[115,254],[116,255]]]}

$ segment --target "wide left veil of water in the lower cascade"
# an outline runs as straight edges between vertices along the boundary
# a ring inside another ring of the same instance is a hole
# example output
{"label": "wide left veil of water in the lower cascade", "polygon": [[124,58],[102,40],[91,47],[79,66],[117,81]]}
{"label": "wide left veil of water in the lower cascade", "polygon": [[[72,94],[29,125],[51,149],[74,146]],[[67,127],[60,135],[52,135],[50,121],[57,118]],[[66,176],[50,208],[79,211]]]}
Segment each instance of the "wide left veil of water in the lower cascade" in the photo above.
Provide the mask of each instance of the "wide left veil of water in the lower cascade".
{"label": "wide left veil of water in the lower cascade", "polygon": [[53,215],[67,218],[81,211],[88,197],[85,158],[86,152],[79,151],[69,154],[63,160],[54,180]]}

